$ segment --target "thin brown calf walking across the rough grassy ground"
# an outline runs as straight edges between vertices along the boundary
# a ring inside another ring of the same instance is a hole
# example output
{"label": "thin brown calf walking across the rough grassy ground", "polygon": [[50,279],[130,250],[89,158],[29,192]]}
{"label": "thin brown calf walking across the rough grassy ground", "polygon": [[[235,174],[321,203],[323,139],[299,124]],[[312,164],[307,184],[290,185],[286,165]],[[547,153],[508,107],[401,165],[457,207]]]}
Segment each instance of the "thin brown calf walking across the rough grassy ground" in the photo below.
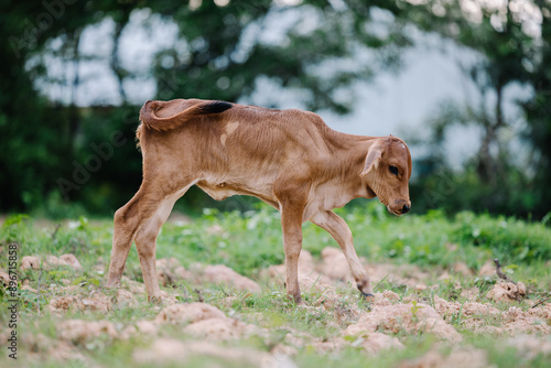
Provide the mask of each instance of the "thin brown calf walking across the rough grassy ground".
{"label": "thin brown calf walking across the rough grassy ground", "polygon": [[332,209],[375,196],[395,215],[410,209],[411,155],[401,139],[336,132],[313,112],[198,99],[148,101],[140,120],[143,182],[115,214],[108,286],[119,284],[134,240],[148,295],[160,299],[156,236],[176,199],[197,185],[218,201],[252,195],[281,212],[287,292],[296,303],[307,220],[335,238],[359,291],[372,294],[350,229]]}

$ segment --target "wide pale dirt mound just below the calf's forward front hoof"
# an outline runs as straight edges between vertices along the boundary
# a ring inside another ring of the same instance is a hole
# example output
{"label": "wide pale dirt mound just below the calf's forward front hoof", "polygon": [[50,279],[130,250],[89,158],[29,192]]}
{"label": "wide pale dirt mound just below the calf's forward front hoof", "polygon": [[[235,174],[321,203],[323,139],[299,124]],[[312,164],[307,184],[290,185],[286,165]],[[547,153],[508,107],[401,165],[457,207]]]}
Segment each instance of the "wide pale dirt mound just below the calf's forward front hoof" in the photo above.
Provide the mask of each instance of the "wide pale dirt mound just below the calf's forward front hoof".
{"label": "wide pale dirt mound just below the calf's forward front hoof", "polygon": [[[390,302],[386,300],[387,302]],[[385,302],[385,304],[387,303]],[[359,336],[375,332],[398,334],[430,333],[452,343],[461,342],[462,336],[430,305],[408,303],[380,305],[375,303],[371,312],[364,313],[358,323],[352,324],[343,332],[344,335]]]}

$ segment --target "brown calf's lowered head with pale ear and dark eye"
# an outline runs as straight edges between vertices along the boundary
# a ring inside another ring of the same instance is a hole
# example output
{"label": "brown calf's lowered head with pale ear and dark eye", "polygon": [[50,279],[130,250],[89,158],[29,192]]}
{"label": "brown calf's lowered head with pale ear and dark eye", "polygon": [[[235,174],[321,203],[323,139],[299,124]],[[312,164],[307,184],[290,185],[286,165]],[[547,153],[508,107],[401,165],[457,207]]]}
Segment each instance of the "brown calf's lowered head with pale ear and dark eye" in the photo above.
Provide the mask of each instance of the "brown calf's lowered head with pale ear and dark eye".
{"label": "brown calf's lowered head with pale ear and dark eye", "polygon": [[377,138],[369,147],[359,176],[390,213],[400,216],[410,210],[411,154],[401,139]]}

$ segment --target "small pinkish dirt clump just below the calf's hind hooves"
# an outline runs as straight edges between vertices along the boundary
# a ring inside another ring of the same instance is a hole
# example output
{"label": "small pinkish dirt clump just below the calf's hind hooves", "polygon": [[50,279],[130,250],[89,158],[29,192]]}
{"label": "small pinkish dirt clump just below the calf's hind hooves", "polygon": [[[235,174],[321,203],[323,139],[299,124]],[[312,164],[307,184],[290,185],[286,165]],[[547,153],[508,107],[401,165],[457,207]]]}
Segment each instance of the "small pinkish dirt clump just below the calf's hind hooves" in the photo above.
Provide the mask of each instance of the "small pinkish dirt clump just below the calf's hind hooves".
{"label": "small pinkish dirt clump just below the calf's hind hooves", "polygon": [[186,324],[208,318],[225,318],[224,312],[206,303],[175,304],[159,313],[155,323]]}

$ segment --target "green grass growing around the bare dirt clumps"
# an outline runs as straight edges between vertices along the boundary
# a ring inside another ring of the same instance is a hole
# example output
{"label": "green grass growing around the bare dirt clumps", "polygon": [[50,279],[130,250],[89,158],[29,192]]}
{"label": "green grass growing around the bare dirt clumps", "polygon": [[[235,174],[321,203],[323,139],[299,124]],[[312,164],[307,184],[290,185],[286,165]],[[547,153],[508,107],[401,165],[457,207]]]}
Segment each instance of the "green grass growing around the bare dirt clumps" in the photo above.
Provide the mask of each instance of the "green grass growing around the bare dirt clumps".
{"label": "green grass growing around the bare dirt clumps", "polygon": [[[486,261],[498,258],[506,266],[506,271],[516,281],[525,282],[529,290],[529,299],[538,300],[548,295],[551,289],[551,277],[548,260],[551,259],[551,229],[539,223],[527,223],[515,218],[490,217],[461,213],[453,218],[446,218],[441,212],[431,212],[426,215],[411,215],[401,218],[391,217],[383,206],[368,203],[364,207],[353,206],[337,213],[345,218],[355,237],[355,246],[360,257],[369,262],[386,262],[397,264],[415,264],[431,275],[428,284],[437,285],[437,289],[420,292],[420,297],[428,304],[433,304],[434,295],[449,301],[464,302],[455,285],[463,289],[477,286],[480,295],[493,286],[491,278],[462,277],[452,273],[449,280],[439,280],[443,270],[450,269],[457,262],[464,262],[473,270],[477,270]],[[327,232],[312,224],[304,227],[304,249],[318,259],[322,249],[336,242]],[[20,339],[20,357],[18,364],[35,367],[58,367],[60,362],[48,356],[40,344],[31,344],[32,338],[42,334],[46,338],[56,338],[56,324],[60,317],[51,315],[45,309],[51,299],[60,296],[53,285],[64,282],[79,284],[77,292],[91,293],[98,290],[107,295],[114,291],[105,291],[105,284],[112,238],[112,220],[75,219],[71,223],[55,223],[34,219],[21,215],[9,217],[0,229],[0,268],[8,269],[8,245],[19,245],[18,256],[46,256],[74,253],[83,264],[84,270],[76,272],[69,268],[44,269],[37,271],[20,271],[20,282],[29,280],[32,288],[37,288],[39,279],[43,285],[40,297],[35,293],[22,292],[20,300],[20,325],[18,331],[23,336]],[[283,262],[283,247],[281,241],[280,217],[276,210],[260,206],[257,210],[247,213],[219,213],[205,210],[203,216],[195,218],[188,225],[166,224],[158,240],[158,258],[174,257],[185,268],[194,262],[223,263],[237,272],[258,280],[262,292],[249,294],[235,292],[224,285],[201,285],[199,294],[205,302],[220,307],[227,315],[239,317],[247,323],[256,324],[269,331],[267,339],[250,338],[225,345],[238,347],[253,347],[261,351],[269,351],[278,344],[288,344],[288,333],[304,337],[304,347],[298,348],[293,361],[299,367],[395,367],[399,362],[415,359],[426,351],[434,349],[434,338],[428,335],[402,336],[400,340],[406,349],[399,351],[382,351],[376,357],[366,355],[361,347],[347,346],[343,350],[331,354],[320,354],[309,345],[307,339],[329,340],[341,336],[342,329],[350,321],[334,321],[332,310],[312,310],[296,307],[284,294],[283,286],[278,283],[266,282],[261,278],[261,270],[272,264]],[[138,256],[133,248],[127,261],[125,272],[130,279],[142,281]],[[181,301],[197,301],[194,292],[196,285],[179,282],[171,293],[181,295]],[[1,290],[1,288],[0,288]],[[412,291],[400,285],[393,285],[382,280],[377,291],[391,290],[400,297],[411,295]],[[357,306],[366,310],[368,305],[358,299],[357,292],[349,288],[337,290],[341,295],[339,307]],[[303,291],[306,304],[315,301],[320,295],[315,291]],[[183,295],[183,296],[182,296]],[[223,305],[224,297],[236,296],[230,305]],[[8,295],[1,290],[0,299],[0,333],[6,333],[9,314],[7,311]],[[114,322],[120,328],[140,320],[153,320],[159,307],[147,302],[143,295],[138,300],[138,307],[114,306],[109,313],[68,312],[62,320],[106,320]],[[528,309],[525,302],[494,303],[499,310],[506,311],[512,305]],[[41,314],[37,311],[41,309]],[[331,313],[329,313],[331,312]],[[515,349],[508,349],[499,340],[489,336],[474,336],[462,329],[463,316],[461,313],[451,316],[451,324],[462,333],[463,345],[472,345],[485,350],[489,364],[498,367],[544,367],[550,357],[538,356],[527,360]],[[488,321],[493,324],[493,321]],[[186,340],[190,337],[181,329],[164,326],[160,334],[165,337],[175,337]],[[3,335],[2,335],[3,336]],[[25,337],[26,336],[26,337]],[[36,338],[35,338],[36,339]],[[67,367],[105,366],[128,367],[136,366],[132,351],[137,347],[148,346],[151,337],[140,336],[130,339],[98,338],[79,345],[78,350],[85,361],[66,359]],[[3,348],[2,345],[2,349]],[[446,347],[440,348],[443,355],[449,354]],[[0,355],[0,366],[11,364],[6,351]],[[141,367],[141,365],[138,365]],[[148,366],[148,365],[144,365]],[[159,366],[159,365],[151,365]],[[170,365],[169,365],[170,366]],[[174,366],[179,366],[174,364]],[[186,367],[228,366],[226,361],[213,357],[194,357],[186,361]],[[240,364],[236,364],[241,366]]]}

